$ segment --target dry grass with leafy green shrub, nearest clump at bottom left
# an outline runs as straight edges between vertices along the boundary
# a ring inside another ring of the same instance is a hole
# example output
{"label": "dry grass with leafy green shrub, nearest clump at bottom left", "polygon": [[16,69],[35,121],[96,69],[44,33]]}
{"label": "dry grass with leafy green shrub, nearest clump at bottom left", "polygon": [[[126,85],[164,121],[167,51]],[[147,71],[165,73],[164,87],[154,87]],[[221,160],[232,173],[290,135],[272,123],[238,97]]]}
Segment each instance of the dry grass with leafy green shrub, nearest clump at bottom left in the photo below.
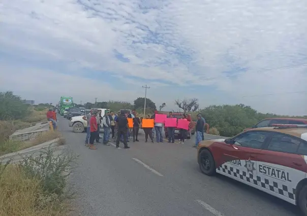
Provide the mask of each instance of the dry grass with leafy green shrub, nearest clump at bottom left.
{"label": "dry grass with leafy green shrub, nearest clump at bottom left", "polygon": [[72,154],[49,148],[17,164],[0,163],[0,215],[65,215]]}

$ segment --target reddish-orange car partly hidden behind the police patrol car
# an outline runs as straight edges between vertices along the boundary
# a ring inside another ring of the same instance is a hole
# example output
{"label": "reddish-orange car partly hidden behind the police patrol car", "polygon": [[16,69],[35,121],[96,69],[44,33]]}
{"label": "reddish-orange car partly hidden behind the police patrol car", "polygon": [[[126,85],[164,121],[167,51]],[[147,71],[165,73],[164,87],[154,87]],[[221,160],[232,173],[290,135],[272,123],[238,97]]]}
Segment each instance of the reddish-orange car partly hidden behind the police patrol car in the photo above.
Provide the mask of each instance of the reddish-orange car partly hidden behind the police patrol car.
{"label": "reddish-orange car partly hidden behind the police patrol car", "polygon": [[251,128],[260,128],[260,127],[270,127],[272,124],[297,124],[297,125],[306,125],[307,119],[296,119],[296,118],[267,118],[263,119],[257,124],[253,125],[250,128],[246,128],[245,130],[249,130]]}

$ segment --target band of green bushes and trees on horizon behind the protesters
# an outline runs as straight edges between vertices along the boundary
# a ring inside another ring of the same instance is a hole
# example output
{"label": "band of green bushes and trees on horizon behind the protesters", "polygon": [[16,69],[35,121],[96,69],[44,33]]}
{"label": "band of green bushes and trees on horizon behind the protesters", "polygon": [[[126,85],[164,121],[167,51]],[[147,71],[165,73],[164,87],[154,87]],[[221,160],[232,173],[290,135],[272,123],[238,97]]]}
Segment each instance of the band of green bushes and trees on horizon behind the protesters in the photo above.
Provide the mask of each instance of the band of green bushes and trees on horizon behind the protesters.
{"label": "band of green bushes and trees on horizon behind the protesters", "polygon": [[[178,106],[178,110],[191,114],[192,119],[197,119],[197,114],[201,113],[205,118],[206,123],[209,124],[209,134],[221,135],[231,137],[243,131],[245,128],[249,128],[265,118],[277,118],[277,117],[292,117],[292,118],[307,118],[306,116],[281,116],[271,113],[259,113],[251,106],[244,104],[235,105],[210,105],[207,107],[199,107],[197,98],[175,100],[174,104]],[[124,101],[104,101],[85,104],[75,104],[78,107],[86,107],[90,109],[92,107],[108,108],[112,111],[119,111],[120,109],[136,110],[140,117],[143,117],[144,113],[144,98],[139,97],[134,100],[133,103]],[[168,114],[169,111],[177,112],[177,110],[167,109],[168,104],[155,104],[149,98],[146,99],[146,114],[153,114],[156,109],[162,113]]]}

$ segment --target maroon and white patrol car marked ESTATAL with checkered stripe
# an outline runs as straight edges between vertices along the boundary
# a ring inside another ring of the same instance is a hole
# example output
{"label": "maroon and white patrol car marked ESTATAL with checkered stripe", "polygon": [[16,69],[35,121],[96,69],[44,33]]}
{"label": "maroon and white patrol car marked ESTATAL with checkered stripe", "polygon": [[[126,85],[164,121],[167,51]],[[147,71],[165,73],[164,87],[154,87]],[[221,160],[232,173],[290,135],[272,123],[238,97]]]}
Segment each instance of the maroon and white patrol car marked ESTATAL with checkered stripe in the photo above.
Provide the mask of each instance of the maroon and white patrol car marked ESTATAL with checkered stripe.
{"label": "maroon and white patrol car marked ESTATAL with checkered stripe", "polygon": [[298,205],[307,215],[307,125],[275,124],[199,143],[206,175],[220,173]]}

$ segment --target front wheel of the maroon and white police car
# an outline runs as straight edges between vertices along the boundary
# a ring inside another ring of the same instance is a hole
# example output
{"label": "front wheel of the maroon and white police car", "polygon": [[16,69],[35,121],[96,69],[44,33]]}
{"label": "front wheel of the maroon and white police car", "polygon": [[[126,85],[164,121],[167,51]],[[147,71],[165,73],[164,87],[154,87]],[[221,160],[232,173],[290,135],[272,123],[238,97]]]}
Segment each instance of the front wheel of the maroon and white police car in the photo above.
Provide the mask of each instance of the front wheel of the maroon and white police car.
{"label": "front wheel of the maroon and white police car", "polygon": [[202,173],[206,175],[214,175],[216,173],[214,159],[208,150],[201,151],[198,156],[198,164]]}

